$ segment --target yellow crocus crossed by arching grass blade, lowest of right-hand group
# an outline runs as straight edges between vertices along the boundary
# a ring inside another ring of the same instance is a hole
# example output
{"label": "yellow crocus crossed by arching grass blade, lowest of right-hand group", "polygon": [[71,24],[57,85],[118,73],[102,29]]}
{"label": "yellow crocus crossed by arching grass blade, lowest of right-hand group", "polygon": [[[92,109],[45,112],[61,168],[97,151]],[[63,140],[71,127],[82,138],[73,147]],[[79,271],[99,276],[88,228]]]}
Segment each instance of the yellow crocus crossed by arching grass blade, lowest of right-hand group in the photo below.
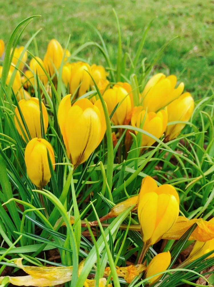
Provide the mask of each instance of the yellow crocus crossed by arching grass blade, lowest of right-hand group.
{"label": "yellow crocus crossed by arching grass blade, lowest of right-hand group", "polygon": [[[131,117],[131,125],[133,127],[141,128],[159,139],[166,129],[167,120],[168,116],[166,110],[160,110],[157,114],[154,112],[146,113],[146,111],[143,110],[143,107],[139,106],[134,108]],[[137,134],[137,131],[135,131],[135,133]],[[151,146],[154,142],[155,139],[142,134],[142,146]]]}

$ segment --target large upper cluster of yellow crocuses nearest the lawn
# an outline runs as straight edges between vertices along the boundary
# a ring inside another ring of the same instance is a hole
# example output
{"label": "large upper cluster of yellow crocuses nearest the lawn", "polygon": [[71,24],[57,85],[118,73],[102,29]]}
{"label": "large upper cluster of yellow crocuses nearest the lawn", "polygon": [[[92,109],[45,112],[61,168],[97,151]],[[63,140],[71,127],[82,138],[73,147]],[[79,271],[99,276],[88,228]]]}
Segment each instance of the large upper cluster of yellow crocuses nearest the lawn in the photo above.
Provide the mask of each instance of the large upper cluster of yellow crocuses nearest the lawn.
{"label": "large upper cluster of yellow crocuses nearest the lawn", "polygon": [[[4,51],[4,42],[1,40],[1,55]],[[142,147],[151,146],[155,138],[159,139],[165,132],[165,139],[171,140],[178,136],[192,115],[194,101],[189,93],[184,93],[184,84],[180,83],[176,88],[177,79],[174,75],[166,77],[162,73],[154,75],[146,84],[143,92],[139,94],[139,106],[134,106],[132,87],[127,82],[110,84],[108,73],[102,66],[77,62],[69,63],[71,56],[68,50],[64,50],[61,44],[52,39],[47,47],[44,59],[34,57],[30,60],[29,69],[23,71],[27,61],[27,52],[24,47],[15,48],[12,64],[7,77],[9,85],[11,75],[15,70],[15,78],[12,85],[14,94],[19,101],[19,108],[15,108],[15,125],[22,138],[28,143],[26,148],[26,167],[31,181],[39,188],[42,188],[50,181],[50,169],[46,150],[55,168],[54,151],[50,144],[42,137],[40,121],[40,105],[37,98],[31,98],[29,90],[36,88],[37,73],[40,82],[46,89],[48,87],[48,75],[57,85],[57,75],[62,67],[62,79],[64,84],[69,84],[72,98],[83,96],[90,89],[94,89],[92,75],[98,86],[108,108],[109,115],[117,106],[111,121],[114,125],[131,125],[141,128],[147,134],[142,134]],[[0,77],[2,66],[0,66]],[[22,76],[21,76],[22,73]],[[23,89],[23,86],[25,89]],[[27,91],[27,90],[28,91]],[[90,100],[78,99],[71,106],[71,94],[65,96],[58,108],[58,120],[67,155],[76,168],[83,163],[90,154],[98,147],[106,131],[104,112],[100,100],[93,96]],[[44,133],[48,127],[48,113],[46,107],[41,103],[43,116]],[[22,117],[20,115],[22,113]],[[24,119],[25,123],[22,122]],[[181,121],[182,123],[176,123]],[[69,123],[76,123],[70,125]],[[168,125],[168,122],[174,124]],[[79,133],[79,130],[82,133]],[[137,131],[135,131],[137,134]],[[153,137],[149,136],[151,134]],[[114,139],[117,138],[114,134]],[[130,147],[131,137],[127,133],[125,141]],[[43,148],[42,148],[43,147]],[[29,153],[30,150],[30,159]],[[43,150],[43,151],[42,151]],[[41,157],[38,156],[40,151]],[[35,171],[38,170],[37,173]],[[34,178],[31,174],[34,174]]]}

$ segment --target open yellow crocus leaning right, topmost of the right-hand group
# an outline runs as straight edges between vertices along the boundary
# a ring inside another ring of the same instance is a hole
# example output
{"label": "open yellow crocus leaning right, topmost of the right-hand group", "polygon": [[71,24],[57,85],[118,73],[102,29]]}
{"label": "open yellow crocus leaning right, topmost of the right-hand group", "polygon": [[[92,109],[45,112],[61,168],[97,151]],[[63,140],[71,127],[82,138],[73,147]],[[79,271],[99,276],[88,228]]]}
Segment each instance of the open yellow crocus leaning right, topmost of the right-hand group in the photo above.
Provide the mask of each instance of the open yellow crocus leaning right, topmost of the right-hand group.
{"label": "open yellow crocus leaning right, topmost of the right-hand group", "polygon": [[166,77],[162,73],[154,75],[146,84],[142,93],[143,109],[156,112],[177,99],[184,90],[184,83],[175,88],[177,78],[174,75]]}

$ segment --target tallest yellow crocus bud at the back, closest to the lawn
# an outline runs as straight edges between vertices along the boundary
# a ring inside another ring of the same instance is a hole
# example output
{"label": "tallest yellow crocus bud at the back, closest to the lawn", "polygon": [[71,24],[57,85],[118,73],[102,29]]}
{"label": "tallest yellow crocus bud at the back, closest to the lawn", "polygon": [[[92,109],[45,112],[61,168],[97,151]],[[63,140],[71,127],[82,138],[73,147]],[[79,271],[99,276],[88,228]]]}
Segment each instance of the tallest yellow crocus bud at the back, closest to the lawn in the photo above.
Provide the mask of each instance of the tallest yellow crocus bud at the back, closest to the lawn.
{"label": "tallest yellow crocus bud at the back, closest to the lawn", "polygon": [[55,74],[55,69],[59,69],[63,59],[63,48],[60,43],[52,39],[48,43],[46,54],[44,55],[44,66],[50,76]]}

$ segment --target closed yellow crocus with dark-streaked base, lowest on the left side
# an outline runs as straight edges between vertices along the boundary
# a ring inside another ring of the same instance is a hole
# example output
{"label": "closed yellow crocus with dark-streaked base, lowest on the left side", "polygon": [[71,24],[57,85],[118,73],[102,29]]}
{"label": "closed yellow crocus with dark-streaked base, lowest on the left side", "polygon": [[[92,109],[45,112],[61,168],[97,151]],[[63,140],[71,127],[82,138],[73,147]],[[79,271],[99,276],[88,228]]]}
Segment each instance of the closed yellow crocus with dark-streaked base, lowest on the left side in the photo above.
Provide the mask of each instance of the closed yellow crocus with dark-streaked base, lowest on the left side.
{"label": "closed yellow crocus with dark-streaked base, lowest on the left side", "polygon": [[26,146],[24,159],[29,179],[38,188],[44,187],[50,181],[48,154],[55,169],[55,158],[52,146],[45,139],[35,137]]}

